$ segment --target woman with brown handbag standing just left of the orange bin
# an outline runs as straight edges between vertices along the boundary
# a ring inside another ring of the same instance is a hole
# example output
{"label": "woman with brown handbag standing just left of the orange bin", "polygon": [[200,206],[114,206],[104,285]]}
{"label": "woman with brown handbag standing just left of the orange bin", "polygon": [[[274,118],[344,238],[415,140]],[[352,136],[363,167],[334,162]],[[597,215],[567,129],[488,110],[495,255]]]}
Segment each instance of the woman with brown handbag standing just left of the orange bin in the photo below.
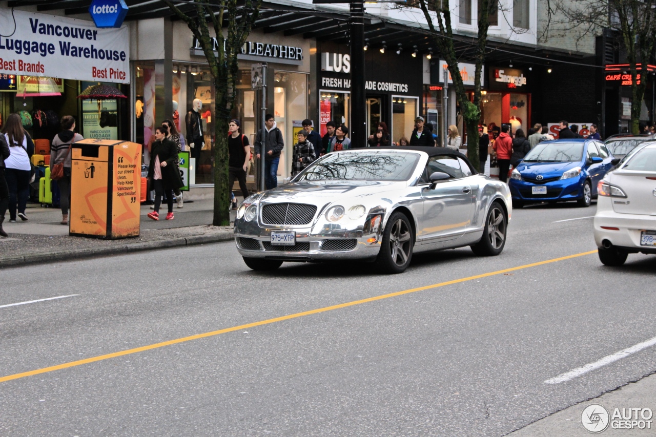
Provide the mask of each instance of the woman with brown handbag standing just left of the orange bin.
{"label": "woman with brown handbag standing just left of the orange bin", "polygon": [[59,188],[61,224],[68,224],[68,207],[71,198],[71,148],[74,142],[83,140],[84,137],[75,133],[75,119],[72,115],[64,115],[60,125],[64,130],[54,137],[50,146],[51,179],[56,180]]}

